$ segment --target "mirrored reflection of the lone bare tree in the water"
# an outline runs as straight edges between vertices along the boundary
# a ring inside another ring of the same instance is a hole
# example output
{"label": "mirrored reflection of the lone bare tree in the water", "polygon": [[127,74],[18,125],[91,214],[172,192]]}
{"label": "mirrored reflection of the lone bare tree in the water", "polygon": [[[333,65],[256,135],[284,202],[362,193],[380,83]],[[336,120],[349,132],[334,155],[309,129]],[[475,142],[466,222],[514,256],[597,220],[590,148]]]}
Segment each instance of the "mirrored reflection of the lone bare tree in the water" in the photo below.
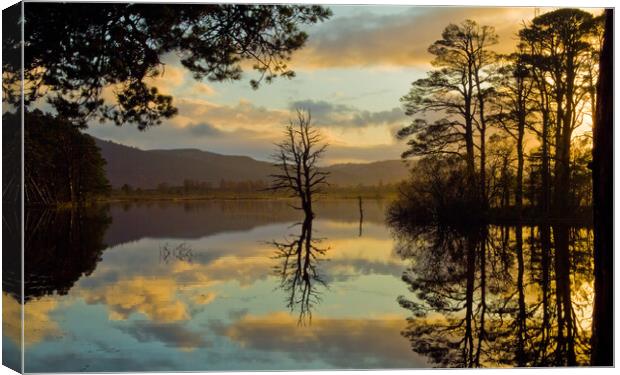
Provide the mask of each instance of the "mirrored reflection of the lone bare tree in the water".
{"label": "mirrored reflection of the lone bare tree in the water", "polygon": [[311,216],[306,216],[300,223],[299,235],[272,242],[276,249],[273,258],[279,261],[274,271],[287,295],[287,308],[299,311],[298,324],[311,323],[312,308],[321,302],[320,288],[327,287],[319,273],[318,263],[328,249],[319,247],[323,239],[312,237],[312,221]]}

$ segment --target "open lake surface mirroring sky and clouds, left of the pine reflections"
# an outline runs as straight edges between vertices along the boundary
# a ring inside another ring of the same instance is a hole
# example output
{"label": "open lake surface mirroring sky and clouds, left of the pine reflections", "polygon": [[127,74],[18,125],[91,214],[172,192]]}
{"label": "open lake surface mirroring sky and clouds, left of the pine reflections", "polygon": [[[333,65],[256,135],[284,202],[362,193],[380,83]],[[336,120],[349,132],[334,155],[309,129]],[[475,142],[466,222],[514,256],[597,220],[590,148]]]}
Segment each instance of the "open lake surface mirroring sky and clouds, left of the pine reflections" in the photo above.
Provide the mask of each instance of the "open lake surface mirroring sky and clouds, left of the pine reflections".
{"label": "open lake surface mirroring sky and clouds, left of the pine reflections", "polygon": [[283,201],[31,211],[26,371],[422,366],[400,335],[404,262],[384,207],[364,202],[362,237],[356,200],[297,226]]}

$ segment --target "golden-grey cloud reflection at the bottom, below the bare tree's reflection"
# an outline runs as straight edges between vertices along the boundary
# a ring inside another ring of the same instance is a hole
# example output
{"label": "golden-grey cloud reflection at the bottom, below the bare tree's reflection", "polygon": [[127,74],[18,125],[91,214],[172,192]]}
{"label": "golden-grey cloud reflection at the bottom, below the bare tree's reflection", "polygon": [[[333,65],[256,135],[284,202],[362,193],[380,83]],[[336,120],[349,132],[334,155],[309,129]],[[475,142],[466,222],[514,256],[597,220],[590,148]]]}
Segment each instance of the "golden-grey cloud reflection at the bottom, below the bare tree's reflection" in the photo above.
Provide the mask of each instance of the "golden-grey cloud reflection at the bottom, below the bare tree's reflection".
{"label": "golden-grey cloud reflection at the bottom, below the bare tree's reflection", "polygon": [[213,323],[212,329],[244,348],[284,352],[300,362],[320,359],[345,369],[421,367],[424,360],[411,352],[400,335],[405,326],[405,319],[394,316],[378,319],[315,316],[311,325],[300,328],[296,317],[272,313],[246,315],[231,325]]}

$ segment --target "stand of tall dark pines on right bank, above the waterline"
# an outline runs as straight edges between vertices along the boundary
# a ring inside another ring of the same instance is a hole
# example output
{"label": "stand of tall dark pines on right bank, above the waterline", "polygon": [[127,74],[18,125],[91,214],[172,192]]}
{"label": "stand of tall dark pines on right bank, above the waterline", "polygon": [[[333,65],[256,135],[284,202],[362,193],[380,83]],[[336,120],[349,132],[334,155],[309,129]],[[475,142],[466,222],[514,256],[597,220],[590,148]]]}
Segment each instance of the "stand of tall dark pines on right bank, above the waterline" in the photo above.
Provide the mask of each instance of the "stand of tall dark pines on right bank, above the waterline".
{"label": "stand of tall dark pines on right bank, above the waterline", "polygon": [[398,133],[403,157],[418,161],[392,213],[564,219],[590,207],[591,136],[574,133],[596,112],[601,32],[602,17],[560,9],[526,24],[516,51],[499,56],[492,27],[446,27],[429,47],[435,69],[402,98],[414,118]]}

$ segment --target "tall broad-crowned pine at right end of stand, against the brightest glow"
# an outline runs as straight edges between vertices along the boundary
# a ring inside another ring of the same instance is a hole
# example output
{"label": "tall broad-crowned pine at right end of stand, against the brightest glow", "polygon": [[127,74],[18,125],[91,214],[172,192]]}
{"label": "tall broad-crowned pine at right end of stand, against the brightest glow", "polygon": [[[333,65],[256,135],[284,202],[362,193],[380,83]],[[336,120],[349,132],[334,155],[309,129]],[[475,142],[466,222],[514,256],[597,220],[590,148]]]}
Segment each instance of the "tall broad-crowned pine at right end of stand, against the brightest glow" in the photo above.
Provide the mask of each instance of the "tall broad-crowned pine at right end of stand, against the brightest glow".
{"label": "tall broad-crowned pine at right end of stand, against the brightest glow", "polygon": [[[572,134],[580,125],[580,108],[591,102],[591,65],[593,41],[599,30],[592,14],[579,9],[558,9],[544,13],[519,32],[528,51],[523,54],[537,81],[542,110],[542,142],[547,154],[554,146],[553,195],[555,215],[569,212],[570,158]],[[549,156],[544,155],[544,163]],[[544,185],[549,180],[544,166]],[[544,186],[549,195],[549,187]],[[549,198],[545,197],[544,205]],[[546,209],[545,209],[546,211]]]}

